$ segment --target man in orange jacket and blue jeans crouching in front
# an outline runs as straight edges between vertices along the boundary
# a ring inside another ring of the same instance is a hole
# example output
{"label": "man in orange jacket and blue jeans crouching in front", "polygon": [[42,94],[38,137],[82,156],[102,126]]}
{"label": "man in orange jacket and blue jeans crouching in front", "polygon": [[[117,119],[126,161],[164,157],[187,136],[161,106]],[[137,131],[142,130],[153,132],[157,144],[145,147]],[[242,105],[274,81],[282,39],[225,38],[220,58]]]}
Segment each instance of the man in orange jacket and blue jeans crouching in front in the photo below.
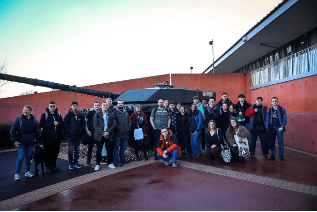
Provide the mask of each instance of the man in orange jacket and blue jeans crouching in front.
{"label": "man in orange jacket and blue jeans crouching in front", "polygon": [[182,151],[177,137],[165,126],[161,128],[156,151],[158,151],[158,157],[166,162],[165,165],[169,165],[173,160],[172,167],[177,167],[177,155],[181,156]]}

